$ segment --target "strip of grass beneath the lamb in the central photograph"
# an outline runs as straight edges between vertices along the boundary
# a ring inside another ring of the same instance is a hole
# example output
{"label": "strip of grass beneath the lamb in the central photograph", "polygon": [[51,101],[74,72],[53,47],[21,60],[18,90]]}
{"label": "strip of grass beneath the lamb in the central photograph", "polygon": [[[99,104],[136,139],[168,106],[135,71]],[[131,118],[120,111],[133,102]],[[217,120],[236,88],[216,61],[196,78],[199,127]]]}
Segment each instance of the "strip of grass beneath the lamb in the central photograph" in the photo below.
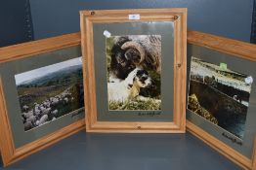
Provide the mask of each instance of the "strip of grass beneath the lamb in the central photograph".
{"label": "strip of grass beneath the lamb in the central photograph", "polygon": [[156,102],[154,99],[148,101],[131,100],[126,102],[113,102],[108,103],[109,110],[161,110],[161,103]]}

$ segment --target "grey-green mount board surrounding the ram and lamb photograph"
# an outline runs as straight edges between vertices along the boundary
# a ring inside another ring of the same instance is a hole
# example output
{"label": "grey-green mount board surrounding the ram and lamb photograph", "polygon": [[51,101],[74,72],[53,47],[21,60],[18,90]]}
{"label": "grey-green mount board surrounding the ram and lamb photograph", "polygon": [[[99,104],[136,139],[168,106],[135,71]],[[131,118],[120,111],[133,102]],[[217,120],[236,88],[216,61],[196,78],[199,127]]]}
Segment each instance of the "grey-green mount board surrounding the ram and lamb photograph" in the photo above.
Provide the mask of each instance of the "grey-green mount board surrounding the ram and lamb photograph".
{"label": "grey-green mount board surrounding the ram and lamb photograph", "polygon": [[[119,35],[161,35],[162,46],[162,72],[161,72],[161,112],[160,115],[151,117],[139,116],[140,113],[152,111],[108,111],[107,107],[107,57],[106,37],[107,30],[112,36]],[[112,121],[172,121],[173,119],[173,58],[174,39],[173,22],[138,22],[138,23],[95,23],[94,24],[94,51],[97,111],[99,120]],[[169,68],[167,69],[163,68]]]}

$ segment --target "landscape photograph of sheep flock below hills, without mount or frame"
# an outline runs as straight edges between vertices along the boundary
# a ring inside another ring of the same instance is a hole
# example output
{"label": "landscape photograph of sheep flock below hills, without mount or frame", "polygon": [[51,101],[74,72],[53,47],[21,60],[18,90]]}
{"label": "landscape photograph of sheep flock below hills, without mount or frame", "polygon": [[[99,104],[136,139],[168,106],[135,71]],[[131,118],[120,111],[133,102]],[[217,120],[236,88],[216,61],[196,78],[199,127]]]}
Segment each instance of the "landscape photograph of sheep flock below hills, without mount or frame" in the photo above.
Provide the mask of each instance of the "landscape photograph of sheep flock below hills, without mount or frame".
{"label": "landscape photograph of sheep flock below hills, without mount or frame", "polygon": [[81,57],[15,75],[24,130],[84,107]]}

